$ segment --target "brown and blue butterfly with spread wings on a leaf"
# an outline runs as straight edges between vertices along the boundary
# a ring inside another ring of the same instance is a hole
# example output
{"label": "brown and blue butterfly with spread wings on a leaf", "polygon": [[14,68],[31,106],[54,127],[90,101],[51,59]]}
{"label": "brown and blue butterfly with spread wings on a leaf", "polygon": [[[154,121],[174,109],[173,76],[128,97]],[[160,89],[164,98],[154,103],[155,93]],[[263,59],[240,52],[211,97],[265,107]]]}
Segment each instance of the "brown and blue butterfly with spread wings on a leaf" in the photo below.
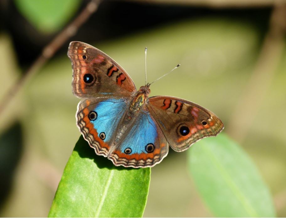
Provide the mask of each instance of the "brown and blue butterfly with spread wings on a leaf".
{"label": "brown and blue butterfly with spread wings on a leaf", "polygon": [[224,125],[214,113],[191,101],[152,96],[150,84],[137,91],[125,70],[99,49],[71,42],[72,91],[78,103],[77,127],[98,155],[115,166],[152,167],[196,141],[216,136]]}

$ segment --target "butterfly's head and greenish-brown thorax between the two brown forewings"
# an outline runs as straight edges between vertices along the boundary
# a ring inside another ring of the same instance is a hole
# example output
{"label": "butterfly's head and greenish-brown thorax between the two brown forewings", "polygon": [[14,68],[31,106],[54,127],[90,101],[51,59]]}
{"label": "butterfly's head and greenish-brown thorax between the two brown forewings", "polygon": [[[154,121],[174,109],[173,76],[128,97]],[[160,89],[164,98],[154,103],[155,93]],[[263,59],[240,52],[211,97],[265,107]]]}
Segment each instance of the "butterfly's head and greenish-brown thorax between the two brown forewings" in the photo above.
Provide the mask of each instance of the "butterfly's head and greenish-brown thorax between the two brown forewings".
{"label": "butterfly's head and greenish-brown thorax between the two brown forewings", "polygon": [[149,83],[145,86],[141,86],[139,91],[136,92],[135,97],[133,98],[129,107],[131,111],[139,111],[141,106],[147,101],[148,95],[150,94],[149,86]]}

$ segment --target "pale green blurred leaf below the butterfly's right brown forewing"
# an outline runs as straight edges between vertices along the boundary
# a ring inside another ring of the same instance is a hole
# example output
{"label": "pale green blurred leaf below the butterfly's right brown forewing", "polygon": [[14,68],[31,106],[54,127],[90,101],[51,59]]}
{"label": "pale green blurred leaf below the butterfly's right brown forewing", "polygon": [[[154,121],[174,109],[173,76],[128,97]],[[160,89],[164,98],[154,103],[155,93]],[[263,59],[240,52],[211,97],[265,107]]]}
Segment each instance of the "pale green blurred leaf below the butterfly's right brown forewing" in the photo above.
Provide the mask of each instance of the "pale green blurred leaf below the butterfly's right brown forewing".
{"label": "pale green blurred leaf below the butterfly's right brown forewing", "polygon": [[188,151],[199,193],[218,217],[274,217],[272,197],[247,154],[225,134],[205,138]]}

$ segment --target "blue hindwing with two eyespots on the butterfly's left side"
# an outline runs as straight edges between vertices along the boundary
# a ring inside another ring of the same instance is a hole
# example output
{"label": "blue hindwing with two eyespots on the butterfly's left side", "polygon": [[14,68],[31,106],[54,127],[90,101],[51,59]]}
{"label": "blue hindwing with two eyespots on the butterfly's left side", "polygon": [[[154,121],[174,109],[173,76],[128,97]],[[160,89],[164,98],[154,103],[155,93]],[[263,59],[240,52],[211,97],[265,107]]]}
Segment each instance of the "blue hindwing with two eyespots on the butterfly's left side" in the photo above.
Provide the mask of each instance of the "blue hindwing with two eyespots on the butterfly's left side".
{"label": "blue hindwing with two eyespots on the butterfly's left side", "polygon": [[83,99],[77,107],[77,126],[98,155],[107,156],[113,135],[130,99]]}

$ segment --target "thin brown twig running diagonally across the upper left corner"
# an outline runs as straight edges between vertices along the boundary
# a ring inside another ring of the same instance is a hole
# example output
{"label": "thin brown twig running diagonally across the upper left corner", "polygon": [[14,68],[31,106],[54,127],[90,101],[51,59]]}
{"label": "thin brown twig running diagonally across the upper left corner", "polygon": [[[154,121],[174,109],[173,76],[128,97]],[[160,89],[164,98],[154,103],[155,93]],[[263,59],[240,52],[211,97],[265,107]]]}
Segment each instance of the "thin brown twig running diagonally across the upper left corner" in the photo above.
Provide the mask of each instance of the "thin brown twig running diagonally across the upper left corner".
{"label": "thin brown twig running diagonally across the upper left corner", "polygon": [[16,96],[19,90],[24,84],[33,77],[33,75],[49,60],[61,46],[73,36],[78,28],[87,21],[87,19],[96,12],[99,4],[99,0],[91,0],[87,3],[87,6],[82,12],[63,30],[50,44],[45,46],[40,56],[34,61],[30,68],[16,81],[16,83],[10,87],[6,95],[4,95],[0,103],[0,115],[4,109],[8,106],[10,101]]}

